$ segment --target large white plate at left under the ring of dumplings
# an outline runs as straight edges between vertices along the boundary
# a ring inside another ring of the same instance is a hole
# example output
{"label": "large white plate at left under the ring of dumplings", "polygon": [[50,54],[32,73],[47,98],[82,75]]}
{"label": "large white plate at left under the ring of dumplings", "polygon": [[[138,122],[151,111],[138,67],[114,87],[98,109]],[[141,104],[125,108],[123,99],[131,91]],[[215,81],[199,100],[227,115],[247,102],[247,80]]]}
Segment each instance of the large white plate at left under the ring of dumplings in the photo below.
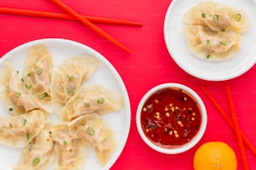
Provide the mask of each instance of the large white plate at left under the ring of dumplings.
{"label": "large white plate at left under the ring of dumplings", "polygon": [[[51,52],[53,56],[54,67],[74,55],[88,54],[90,56],[97,57],[100,60],[99,68],[89,78],[89,80],[85,82],[85,84],[100,84],[120,92],[123,95],[125,99],[125,107],[120,110],[120,112],[111,112],[104,116],[106,122],[108,122],[110,128],[113,129],[117,138],[118,148],[115,150],[114,156],[105,165],[105,167],[100,167],[100,163],[98,163],[98,160],[95,157],[94,149],[90,148],[89,157],[84,165],[84,169],[109,169],[120,156],[120,153],[125,146],[131,125],[130,101],[125,84],[119,73],[116,72],[110,62],[108,62],[107,59],[105,59],[105,57],[103,57],[99,52],[95,52],[92,48],[79,42],[73,42],[65,39],[41,39],[25,43],[5,54],[0,59],[0,67],[3,66],[4,61],[8,61],[11,62],[18,70],[22,71],[24,59],[28,55],[28,48],[38,43],[43,43],[48,47],[49,52]],[[0,115],[8,116],[7,110],[3,107],[2,102],[0,102]],[[54,119],[54,121],[56,121],[56,119]],[[21,149],[7,148],[0,145],[1,170],[13,169],[13,166],[18,163],[20,153]],[[49,169],[53,169],[53,163],[49,165]]]}

